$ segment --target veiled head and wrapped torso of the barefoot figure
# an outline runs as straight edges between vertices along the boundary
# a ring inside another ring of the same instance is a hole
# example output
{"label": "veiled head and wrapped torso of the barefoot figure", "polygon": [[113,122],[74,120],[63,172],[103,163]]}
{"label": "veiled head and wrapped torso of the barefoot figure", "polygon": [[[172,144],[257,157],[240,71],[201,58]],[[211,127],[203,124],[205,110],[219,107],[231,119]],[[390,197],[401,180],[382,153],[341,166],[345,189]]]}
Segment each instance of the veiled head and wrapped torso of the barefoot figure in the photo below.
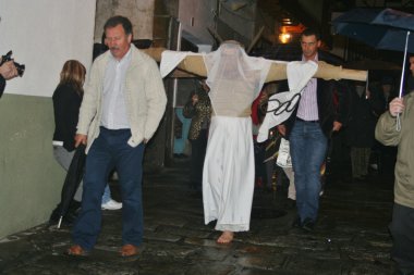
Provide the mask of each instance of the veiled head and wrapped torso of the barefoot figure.
{"label": "veiled head and wrapped torso of the barefoot figure", "polygon": [[240,43],[227,41],[217,51],[204,55],[204,62],[214,113],[248,116],[271,61],[248,57]]}

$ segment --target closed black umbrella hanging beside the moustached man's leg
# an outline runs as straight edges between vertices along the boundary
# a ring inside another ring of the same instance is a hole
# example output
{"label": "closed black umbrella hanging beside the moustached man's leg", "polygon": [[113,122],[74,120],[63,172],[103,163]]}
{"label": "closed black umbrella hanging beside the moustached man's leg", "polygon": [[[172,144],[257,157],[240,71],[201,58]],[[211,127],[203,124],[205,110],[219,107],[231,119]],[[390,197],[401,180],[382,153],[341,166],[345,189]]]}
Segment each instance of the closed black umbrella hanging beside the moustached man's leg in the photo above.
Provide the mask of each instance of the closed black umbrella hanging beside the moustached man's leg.
{"label": "closed black umbrella hanging beside the moustached man's leg", "polygon": [[80,186],[81,180],[84,176],[85,160],[86,160],[85,148],[86,147],[82,143],[76,148],[71,165],[69,166],[68,174],[62,187],[61,201],[59,203],[60,218],[59,218],[58,228],[60,228],[63,216],[68,213],[73,196],[75,195],[76,189]]}

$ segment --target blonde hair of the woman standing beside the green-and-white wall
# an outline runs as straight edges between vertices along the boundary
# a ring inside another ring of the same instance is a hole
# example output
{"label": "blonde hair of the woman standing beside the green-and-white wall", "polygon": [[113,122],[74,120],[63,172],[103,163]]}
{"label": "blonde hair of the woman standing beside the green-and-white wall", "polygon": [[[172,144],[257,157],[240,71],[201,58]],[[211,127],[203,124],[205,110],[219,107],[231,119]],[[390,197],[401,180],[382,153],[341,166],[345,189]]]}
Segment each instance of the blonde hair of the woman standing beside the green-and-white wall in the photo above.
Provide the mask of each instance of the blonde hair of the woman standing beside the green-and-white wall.
{"label": "blonde hair of the woman standing beside the green-and-white wall", "polygon": [[68,60],[64,62],[62,72],[60,73],[60,83],[72,85],[76,92],[82,96],[84,92],[84,83],[85,83],[86,68],[77,60]]}

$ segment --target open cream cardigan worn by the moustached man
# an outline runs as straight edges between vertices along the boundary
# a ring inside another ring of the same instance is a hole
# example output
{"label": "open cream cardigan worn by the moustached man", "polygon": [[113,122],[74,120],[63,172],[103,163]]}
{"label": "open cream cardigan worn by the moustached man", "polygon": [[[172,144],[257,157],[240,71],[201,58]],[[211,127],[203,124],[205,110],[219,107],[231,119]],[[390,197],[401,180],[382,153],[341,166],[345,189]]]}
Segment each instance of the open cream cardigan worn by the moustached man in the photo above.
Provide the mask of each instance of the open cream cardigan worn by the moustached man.
{"label": "open cream cardigan worn by the moustached man", "polygon": [[[138,146],[149,140],[156,132],[166,110],[167,97],[157,63],[133,45],[132,60],[126,72],[124,98],[132,137],[127,143]],[[82,101],[77,134],[87,135],[86,152],[99,136],[102,115],[104,76],[110,51],[98,57],[90,70]]]}

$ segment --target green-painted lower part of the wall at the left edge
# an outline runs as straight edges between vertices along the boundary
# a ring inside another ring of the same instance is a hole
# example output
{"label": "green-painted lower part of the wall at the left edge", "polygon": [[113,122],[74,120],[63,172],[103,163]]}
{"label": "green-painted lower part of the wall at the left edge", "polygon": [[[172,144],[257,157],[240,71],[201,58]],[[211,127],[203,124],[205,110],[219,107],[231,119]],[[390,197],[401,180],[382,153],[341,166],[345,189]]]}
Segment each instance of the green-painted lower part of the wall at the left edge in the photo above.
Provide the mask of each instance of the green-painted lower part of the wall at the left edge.
{"label": "green-painted lower part of the wall at the left edge", "polygon": [[52,154],[51,98],[0,99],[0,238],[48,221],[64,171]]}

